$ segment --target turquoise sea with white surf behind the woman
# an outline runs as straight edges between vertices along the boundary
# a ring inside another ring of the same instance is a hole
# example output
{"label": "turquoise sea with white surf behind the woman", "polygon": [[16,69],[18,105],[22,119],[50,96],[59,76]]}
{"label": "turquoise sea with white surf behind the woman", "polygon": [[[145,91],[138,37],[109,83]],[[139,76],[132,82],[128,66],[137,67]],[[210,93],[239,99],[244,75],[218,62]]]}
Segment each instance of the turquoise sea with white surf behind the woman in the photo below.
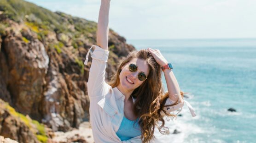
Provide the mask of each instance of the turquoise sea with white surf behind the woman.
{"label": "turquoise sea with white surf behind the woman", "polygon": [[[172,63],[187,107],[169,121],[157,143],[256,143],[256,39],[128,40],[136,49],[159,49]],[[163,78],[164,81],[164,78]],[[165,89],[166,88],[166,83]],[[228,112],[233,107],[237,112]]]}

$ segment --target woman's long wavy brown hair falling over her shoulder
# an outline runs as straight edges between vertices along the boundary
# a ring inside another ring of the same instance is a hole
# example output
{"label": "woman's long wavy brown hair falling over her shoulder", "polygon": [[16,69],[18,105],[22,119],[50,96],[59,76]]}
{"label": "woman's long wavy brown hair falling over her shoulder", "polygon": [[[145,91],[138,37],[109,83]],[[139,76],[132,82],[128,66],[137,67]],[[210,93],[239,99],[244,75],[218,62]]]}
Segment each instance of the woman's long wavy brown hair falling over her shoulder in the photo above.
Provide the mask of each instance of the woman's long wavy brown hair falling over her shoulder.
{"label": "woman's long wavy brown hair falling over her shoulder", "polygon": [[[165,105],[166,100],[169,98],[169,93],[164,93],[163,91],[160,65],[157,64],[154,57],[146,49],[131,52],[118,66],[117,72],[111,77],[111,81],[108,84],[112,88],[120,84],[119,75],[122,71],[121,68],[133,58],[146,60],[150,69],[147,79],[140,87],[134,89],[131,94],[131,96],[136,98],[133,111],[137,117],[140,117],[141,141],[142,143],[149,143],[151,139],[155,138],[154,131],[156,126],[161,134],[169,134],[169,128],[164,126],[165,121],[163,117],[166,115],[167,117],[176,118],[176,115],[170,114],[163,109],[169,106]],[[180,94],[183,98],[183,92],[180,91]],[[171,105],[175,104],[178,104],[178,101]],[[159,121],[162,122],[162,125]]]}

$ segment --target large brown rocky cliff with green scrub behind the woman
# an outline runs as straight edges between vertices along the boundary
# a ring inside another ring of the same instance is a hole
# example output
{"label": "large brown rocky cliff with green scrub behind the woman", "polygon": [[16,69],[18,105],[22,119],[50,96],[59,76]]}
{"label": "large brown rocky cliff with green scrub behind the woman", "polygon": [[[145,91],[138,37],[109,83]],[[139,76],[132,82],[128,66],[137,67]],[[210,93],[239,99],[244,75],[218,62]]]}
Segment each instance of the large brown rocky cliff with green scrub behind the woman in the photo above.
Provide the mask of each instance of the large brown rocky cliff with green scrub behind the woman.
{"label": "large brown rocky cliff with green scrub behind the woman", "polygon": [[[83,61],[96,44],[96,30],[95,22],[23,0],[0,0],[0,99],[52,131],[88,120],[91,58],[88,66]],[[107,80],[134,47],[110,29],[109,49]]]}

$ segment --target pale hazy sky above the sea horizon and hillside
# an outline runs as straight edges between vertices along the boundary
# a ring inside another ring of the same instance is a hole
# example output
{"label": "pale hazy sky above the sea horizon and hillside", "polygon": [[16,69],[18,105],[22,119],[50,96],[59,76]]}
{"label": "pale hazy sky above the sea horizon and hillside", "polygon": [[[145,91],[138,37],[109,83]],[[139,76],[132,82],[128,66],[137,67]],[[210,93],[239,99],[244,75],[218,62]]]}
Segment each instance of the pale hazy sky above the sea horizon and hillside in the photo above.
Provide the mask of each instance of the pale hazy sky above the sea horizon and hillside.
{"label": "pale hazy sky above the sea horizon and hillside", "polygon": [[[98,22],[101,0],[27,0]],[[111,0],[110,27],[127,39],[256,38],[256,0]]]}

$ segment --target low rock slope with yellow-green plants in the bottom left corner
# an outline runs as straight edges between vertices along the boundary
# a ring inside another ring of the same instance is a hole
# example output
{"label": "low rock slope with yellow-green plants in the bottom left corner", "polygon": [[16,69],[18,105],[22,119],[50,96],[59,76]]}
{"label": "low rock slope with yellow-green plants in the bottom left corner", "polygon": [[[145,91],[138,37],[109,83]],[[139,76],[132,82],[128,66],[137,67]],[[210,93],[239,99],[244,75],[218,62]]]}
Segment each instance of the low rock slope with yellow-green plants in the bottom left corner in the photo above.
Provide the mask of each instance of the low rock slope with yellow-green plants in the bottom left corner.
{"label": "low rock slope with yellow-green plants in the bottom left corner", "polygon": [[[40,143],[43,140],[47,141],[47,143],[52,143],[51,138],[54,137],[54,133],[50,128],[32,120],[29,115],[25,116],[16,112],[1,99],[0,135],[9,137],[19,143]],[[37,138],[37,136],[40,137]]]}

